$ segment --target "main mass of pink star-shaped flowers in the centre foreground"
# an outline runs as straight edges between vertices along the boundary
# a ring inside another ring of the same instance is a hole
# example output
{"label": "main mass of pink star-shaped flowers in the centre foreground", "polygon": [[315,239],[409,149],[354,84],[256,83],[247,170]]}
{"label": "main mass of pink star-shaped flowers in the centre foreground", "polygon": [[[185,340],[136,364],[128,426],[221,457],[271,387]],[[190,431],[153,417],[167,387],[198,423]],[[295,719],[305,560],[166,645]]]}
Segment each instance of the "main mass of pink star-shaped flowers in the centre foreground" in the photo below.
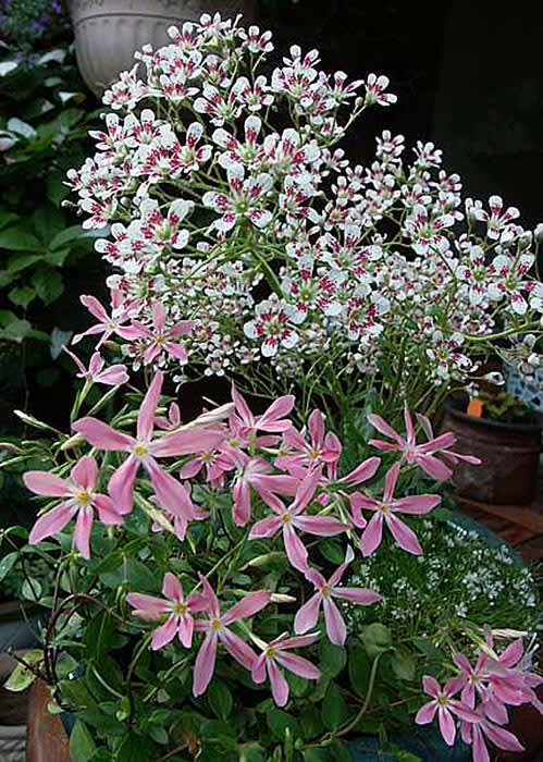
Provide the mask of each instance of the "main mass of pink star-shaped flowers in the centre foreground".
{"label": "main mass of pink star-shaped flowers in the centre foreground", "polygon": [[[86,378],[87,383],[103,382],[103,373],[101,379],[100,374],[90,380]],[[382,492],[362,487],[375,477],[381,464],[379,457],[369,457],[342,476],[340,440],[326,432],[324,417],[319,410],[309,417],[307,429],[297,430],[288,418],[294,407],[291,395],[277,398],[262,415],[256,416],[233,389],[232,403],[182,425],[175,406],[168,419],[157,417],[162,384],[163,377],[158,371],[139,408],[135,437],[94,417],[87,416],[73,423],[82,441],[88,442],[95,452],[104,453],[102,468],[92,455],[84,455],[67,478],[48,471],[25,474],[24,481],[29,490],[62,499],[38,518],[29,542],[39,543],[75,519],[73,543],[84,558],[90,558],[95,519],[114,527],[123,525],[136,505],[152,505],[150,515],[156,530],[170,531],[178,542],[185,543],[195,523],[210,520],[214,496],[231,494],[226,507],[229,520],[245,530],[243,542],[269,543],[276,538],[274,544],[282,548],[281,554],[293,574],[300,575],[310,586],[307,600],[294,616],[295,635],[281,635],[272,642],[264,642],[254,631],[248,631],[246,635],[261,650],[261,656],[257,656],[246,639],[231,630],[230,625],[255,616],[272,600],[271,591],[249,592],[223,611],[217,591],[201,573],[188,595],[180,580],[166,573],[163,599],[134,592],[129,593],[127,602],[145,622],[161,623],[152,635],[151,646],[156,650],[175,636],[189,649],[194,632],[203,634],[195,660],[195,696],[206,691],[218,647],[222,644],[235,661],[251,672],[256,683],[263,681],[268,674],[273,697],[283,705],[288,688],[279,666],[303,677],[319,677],[319,671],[307,660],[285,651],[317,640],[318,634],[309,634],[309,630],[318,626],[321,612],[328,638],[343,646],[347,628],[335,601],[369,605],[380,599],[367,588],[342,585],[354,560],[351,545],[359,546],[363,555],[373,553],[386,526],[400,548],[411,554],[422,553],[414,530],[399,516],[428,514],[441,499],[430,494],[394,496],[402,469],[409,465],[403,456],[386,471]],[[406,413],[406,417],[408,415]],[[443,448],[442,452],[440,447],[453,443],[454,438],[443,442],[435,440],[431,447],[433,456],[445,456],[448,451]],[[106,493],[102,493],[98,484],[108,471],[106,462],[113,453],[120,454],[122,459],[110,472]],[[172,474],[172,458],[177,463],[182,459],[177,477]],[[145,480],[138,480],[141,471]],[[208,501],[196,499],[198,483],[208,486]],[[367,511],[372,513],[369,521],[365,516]],[[226,520],[224,516],[222,520]],[[362,530],[360,537],[358,529]],[[346,537],[345,560],[325,577],[310,561],[308,541],[341,536]]]}

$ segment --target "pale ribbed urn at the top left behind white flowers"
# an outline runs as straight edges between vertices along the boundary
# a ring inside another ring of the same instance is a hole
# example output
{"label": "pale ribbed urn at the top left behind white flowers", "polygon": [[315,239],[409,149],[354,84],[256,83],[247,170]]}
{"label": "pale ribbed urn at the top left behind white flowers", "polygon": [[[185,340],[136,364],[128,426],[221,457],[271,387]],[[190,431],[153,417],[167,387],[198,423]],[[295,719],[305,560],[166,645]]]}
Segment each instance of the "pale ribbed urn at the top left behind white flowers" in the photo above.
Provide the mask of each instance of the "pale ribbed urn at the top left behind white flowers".
{"label": "pale ribbed urn at the top left behind white flowers", "polygon": [[244,14],[248,22],[254,0],[69,0],[79,72],[96,96],[121,72],[134,66],[134,52],[150,42],[169,42],[172,24],[198,21],[202,13],[224,19]]}

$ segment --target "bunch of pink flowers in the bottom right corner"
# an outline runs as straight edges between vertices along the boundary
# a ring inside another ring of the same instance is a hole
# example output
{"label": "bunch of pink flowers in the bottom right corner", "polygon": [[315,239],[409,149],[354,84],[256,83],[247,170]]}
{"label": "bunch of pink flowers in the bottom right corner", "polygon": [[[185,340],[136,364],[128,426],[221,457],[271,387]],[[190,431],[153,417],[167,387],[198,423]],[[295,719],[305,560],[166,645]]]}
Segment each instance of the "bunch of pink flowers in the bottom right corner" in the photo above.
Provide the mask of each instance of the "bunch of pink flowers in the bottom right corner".
{"label": "bunch of pink flowers in the bottom right corner", "polygon": [[459,720],[461,738],[472,746],[473,762],[490,762],[485,738],[498,749],[523,751],[516,736],[502,726],[508,723],[508,706],[529,702],[543,712],[534,691],[543,677],[530,672],[531,656],[525,653],[521,638],[497,654],[489,635],[474,666],[462,654],[454,657],[460,674],[443,688],[433,677],[424,677],[431,701],[419,710],[416,722],[424,725],[437,715],[441,734],[453,746]]}

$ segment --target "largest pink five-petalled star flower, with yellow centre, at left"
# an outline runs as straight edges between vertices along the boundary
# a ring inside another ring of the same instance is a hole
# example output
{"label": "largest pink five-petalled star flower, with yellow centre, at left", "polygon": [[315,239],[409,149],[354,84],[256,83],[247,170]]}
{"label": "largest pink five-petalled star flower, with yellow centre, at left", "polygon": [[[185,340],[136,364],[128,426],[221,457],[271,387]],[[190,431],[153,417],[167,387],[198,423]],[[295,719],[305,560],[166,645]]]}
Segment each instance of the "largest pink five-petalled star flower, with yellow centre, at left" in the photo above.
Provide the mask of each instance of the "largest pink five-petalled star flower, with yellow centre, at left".
{"label": "largest pink five-petalled star flower, with yellow centre, at left", "polygon": [[217,429],[184,428],[181,431],[163,434],[153,440],[155,415],[162,390],[163,377],[158,371],[145,395],[137,418],[137,434],[131,437],[115,431],[97,418],[82,418],[73,425],[94,447],[99,450],[128,453],[126,460],[116,469],[109,482],[109,493],[118,509],[132,511],[134,505],[134,482],[140,466],[149,475],[157,500],[161,507],[183,517],[186,523],[195,517],[195,506],[183,484],[166,474],[157,458],[190,455],[201,448],[218,446],[224,433]]}

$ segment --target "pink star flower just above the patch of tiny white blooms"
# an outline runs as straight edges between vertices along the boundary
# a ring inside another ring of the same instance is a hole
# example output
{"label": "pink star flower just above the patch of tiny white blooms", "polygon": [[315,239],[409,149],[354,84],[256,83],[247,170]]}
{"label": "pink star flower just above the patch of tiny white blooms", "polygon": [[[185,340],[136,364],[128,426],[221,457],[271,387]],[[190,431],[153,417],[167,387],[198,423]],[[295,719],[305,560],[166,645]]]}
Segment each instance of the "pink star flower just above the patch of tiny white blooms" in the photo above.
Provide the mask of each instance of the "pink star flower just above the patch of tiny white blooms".
{"label": "pink star flower just above the patch of tiny white blooms", "polygon": [[[394,490],[400,468],[400,464],[395,463],[386,472],[382,500],[368,497],[359,492],[355,492],[350,497],[353,523],[356,527],[363,528],[360,540],[360,549],[363,555],[371,555],[381,544],[383,523],[386,524],[400,548],[414,555],[422,553],[417,536],[396,514],[428,514],[441,503],[441,497],[439,495],[423,494],[394,499]],[[363,518],[362,509],[374,512],[369,523]]]}

